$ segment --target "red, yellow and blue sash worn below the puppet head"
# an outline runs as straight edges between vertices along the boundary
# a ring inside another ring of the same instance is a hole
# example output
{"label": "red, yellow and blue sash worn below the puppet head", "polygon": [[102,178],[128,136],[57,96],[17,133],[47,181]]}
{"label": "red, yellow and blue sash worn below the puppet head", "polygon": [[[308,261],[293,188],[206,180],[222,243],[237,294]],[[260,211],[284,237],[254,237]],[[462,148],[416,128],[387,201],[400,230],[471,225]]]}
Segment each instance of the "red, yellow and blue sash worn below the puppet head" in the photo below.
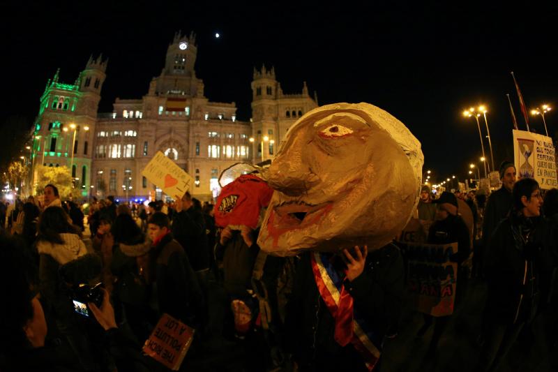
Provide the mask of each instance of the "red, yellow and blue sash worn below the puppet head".
{"label": "red, yellow and blue sash worn below the puppet head", "polygon": [[382,339],[372,332],[361,316],[363,312],[359,312],[359,306],[353,303],[329,256],[313,252],[310,258],[319,294],[335,319],[335,341],[341,346],[352,343],[363,356],[368,371],[372,371],[379,360]]}

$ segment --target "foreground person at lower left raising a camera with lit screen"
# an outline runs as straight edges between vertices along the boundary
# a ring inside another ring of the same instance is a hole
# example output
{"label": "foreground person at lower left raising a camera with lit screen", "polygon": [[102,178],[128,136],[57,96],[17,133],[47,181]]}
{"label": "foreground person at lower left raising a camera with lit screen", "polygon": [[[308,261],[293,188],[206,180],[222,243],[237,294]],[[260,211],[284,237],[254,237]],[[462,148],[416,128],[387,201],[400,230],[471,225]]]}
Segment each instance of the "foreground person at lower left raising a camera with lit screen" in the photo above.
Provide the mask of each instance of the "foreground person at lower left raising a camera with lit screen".
{"label": "foreground person at lower left raising a camera with lit screen", "polygon": [[[44,299],[36,295],[35,283],[27,278],[28,262],[22,258],[22,247],[6,235],[0,235],[0,246],[0,280],[10,283],[3,292],[10,306],[0,308],[0,371],[107,371],[106,366],[83,369],[68,344],[50,342],[47,334],[52,329],[43,311]],[[91,318],[102,328],[104,345],[114,366],[119,371],[158,370],[154,360],[140,354],[140,345],[116,326],[108,293],[103,295],[100,308],[89,304],[89,309]],[[87,337],[82,334],[82,338]]]}

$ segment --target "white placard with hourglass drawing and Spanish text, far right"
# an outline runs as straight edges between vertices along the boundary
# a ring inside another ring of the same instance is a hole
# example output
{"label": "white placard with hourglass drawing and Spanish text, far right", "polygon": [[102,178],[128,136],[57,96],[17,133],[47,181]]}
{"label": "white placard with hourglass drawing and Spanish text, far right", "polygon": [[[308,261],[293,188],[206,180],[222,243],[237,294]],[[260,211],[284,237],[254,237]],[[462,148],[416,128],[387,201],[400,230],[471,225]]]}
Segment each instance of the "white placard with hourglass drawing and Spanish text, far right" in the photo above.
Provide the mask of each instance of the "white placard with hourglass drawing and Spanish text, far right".
{"label": "white placard with hourglass drawing and Spanish text, far right", "polygon": [[552,138],[514,129],[513,154],[518,178],[534,178],[543,190],[558,187]]}

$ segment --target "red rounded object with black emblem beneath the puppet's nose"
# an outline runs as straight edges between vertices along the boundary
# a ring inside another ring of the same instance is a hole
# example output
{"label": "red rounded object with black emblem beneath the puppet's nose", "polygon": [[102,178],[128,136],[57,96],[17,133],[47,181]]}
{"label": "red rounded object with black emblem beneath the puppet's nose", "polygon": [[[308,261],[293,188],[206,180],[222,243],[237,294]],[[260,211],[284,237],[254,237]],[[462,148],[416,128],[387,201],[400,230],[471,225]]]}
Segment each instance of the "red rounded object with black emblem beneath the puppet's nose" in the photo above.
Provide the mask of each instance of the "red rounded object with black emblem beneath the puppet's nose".
{"label": "red rounded object with black emblem beneath the puppet's nose", "polygon": [[215,203],[215,223],[240,230],[241,225],[257,228],[259,213],[267,207],[273,189],[255,174],[243,174],[221,190]]}

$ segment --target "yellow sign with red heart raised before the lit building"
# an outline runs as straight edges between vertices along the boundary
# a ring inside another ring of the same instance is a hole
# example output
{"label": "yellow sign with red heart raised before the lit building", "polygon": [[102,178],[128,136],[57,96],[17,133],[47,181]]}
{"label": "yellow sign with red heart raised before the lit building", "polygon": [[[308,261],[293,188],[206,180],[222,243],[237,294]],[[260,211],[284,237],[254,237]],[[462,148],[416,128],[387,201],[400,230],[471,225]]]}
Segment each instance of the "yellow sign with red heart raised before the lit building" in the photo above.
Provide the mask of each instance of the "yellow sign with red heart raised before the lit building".
{"label": "yellow sign with red heart raised before the lit building", "polygon": [[147,163],[142,176],[149,179],[163,190],[163,193],[172,198],[182,198],[194,184],[194,179],[190,174],[184,172],[174,161],[170,160],[161,151],[153,156]]}

